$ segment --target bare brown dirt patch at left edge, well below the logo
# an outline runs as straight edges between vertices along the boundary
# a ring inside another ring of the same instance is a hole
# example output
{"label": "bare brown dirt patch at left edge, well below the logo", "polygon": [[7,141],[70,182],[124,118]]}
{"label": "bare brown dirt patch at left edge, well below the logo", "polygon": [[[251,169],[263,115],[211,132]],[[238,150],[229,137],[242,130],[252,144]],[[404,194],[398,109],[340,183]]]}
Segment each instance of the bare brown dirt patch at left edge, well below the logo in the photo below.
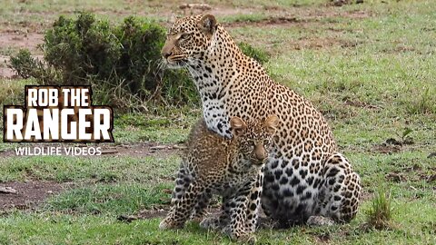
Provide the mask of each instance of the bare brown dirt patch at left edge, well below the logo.
{"label": "bare brown dirt patch at left edge, well below the logo", "polygon": [[50,181],[5,182],[1,188],[16,191],[0,191],[0,211],[16,208],[20,210],[35,208],[50,195],[59,193],[69,186],[68,183]]}

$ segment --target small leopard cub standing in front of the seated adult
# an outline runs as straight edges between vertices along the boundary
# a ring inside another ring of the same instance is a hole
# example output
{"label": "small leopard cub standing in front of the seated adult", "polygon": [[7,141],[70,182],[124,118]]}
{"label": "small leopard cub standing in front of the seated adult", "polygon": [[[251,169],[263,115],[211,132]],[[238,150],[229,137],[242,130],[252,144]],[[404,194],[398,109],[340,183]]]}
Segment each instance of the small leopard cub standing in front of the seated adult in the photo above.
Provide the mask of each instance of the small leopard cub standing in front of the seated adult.
{"label": "small leopard cub standing in front of the seated adult", "polygon": [[197,122],[182,155],[171,211],[159,227],[180,228],[189,218],[202,218],[212,195],[219,194],[222,214],[201,225],[223,229],[233,239],[249,238],[258,216],[263,165],[278,123],[275,115],[254,122],[233,117],[233,138],[227,139],[208,130],[203,119]]}

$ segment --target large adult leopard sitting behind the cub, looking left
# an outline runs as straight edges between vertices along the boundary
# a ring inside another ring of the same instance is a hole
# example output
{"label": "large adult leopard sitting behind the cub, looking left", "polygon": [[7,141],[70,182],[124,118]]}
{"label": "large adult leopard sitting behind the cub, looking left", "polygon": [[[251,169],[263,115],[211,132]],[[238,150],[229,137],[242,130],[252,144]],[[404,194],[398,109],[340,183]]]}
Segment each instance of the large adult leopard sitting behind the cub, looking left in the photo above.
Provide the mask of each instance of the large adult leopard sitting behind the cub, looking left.
{"label": "large adult leopard sitting behind the cub, looking left", "polygon": [[360,177],[337,152],[322,114],[302,96],[273,82],[213,15],[177,20],[162,55],[169,67],[187,68],[192,74],[210,130],[230,138],[232,116],[280,118],[264,171],[262,206],[267,215],[281,225],[352,220],[359,205]]}

